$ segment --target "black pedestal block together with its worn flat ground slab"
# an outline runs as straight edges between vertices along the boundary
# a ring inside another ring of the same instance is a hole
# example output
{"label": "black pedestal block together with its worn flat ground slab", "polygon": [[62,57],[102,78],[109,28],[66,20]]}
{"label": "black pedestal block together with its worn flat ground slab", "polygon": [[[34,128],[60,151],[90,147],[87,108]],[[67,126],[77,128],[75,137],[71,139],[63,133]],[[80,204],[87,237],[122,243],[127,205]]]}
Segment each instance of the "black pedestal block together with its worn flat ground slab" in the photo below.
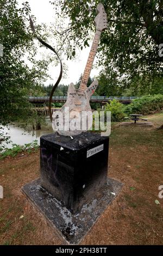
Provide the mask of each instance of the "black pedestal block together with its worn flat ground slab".
{"label": "black pedestal block together with its worn flat ground slab", "polygon": [[78,244],[120,192],[107,179],[109,138],[86,132],[42,136],[41,178],[22,192],[64,243]]}

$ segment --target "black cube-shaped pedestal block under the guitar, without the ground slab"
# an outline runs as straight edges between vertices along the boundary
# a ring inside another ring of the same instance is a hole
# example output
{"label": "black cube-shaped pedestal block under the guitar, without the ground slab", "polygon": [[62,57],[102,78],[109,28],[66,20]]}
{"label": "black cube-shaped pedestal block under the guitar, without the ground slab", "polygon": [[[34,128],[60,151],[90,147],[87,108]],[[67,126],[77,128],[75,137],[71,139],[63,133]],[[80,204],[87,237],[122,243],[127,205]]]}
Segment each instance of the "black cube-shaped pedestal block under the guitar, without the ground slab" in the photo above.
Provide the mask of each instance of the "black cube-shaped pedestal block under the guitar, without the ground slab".
{"label": "black cube-shaped pedestal block under the guitar, without the ground slab", "polygon": [[109,138],[86,132],[40,138],[41,185],[68,210],[82,209],[106,184]]}

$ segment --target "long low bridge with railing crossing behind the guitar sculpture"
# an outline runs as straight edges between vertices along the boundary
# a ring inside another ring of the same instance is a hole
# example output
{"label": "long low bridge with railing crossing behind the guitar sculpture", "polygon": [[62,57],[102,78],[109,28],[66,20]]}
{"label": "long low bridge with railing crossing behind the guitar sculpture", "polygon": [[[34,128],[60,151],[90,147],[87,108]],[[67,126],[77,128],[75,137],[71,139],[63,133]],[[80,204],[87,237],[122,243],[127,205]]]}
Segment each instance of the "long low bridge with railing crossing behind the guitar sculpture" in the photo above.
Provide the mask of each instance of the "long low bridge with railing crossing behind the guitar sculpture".
{"label": "long low bridge with railing crossing behind the guitar sculpture", "polygon": [[[106,96],[92,96],[90,102],[92,103],[102,103],[105,104],[110,100],[117,100],[123,104],[130,104],[132,100],[137,99],[138,97],[106,97]],[[49,101],[49,96],[30,96],[29,102],[31,103],[47,103]],[[66,102],[67,96],[53,96],[52,102]]]}

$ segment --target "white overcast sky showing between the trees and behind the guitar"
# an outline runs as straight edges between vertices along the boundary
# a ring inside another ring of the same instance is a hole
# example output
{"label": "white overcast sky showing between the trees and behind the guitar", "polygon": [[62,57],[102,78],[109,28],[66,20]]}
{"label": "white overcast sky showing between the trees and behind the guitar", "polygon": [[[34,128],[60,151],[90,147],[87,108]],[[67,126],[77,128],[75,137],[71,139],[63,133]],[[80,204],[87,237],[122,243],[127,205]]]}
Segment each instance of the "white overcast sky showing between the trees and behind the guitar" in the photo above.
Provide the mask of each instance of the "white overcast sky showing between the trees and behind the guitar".
{"label": "white overcast sky showing between the trees and behind the guitar", "polygon": [[[17,1],[19,5],[25,2],[23,0],[17,0]],[[43,22],[49,25],[51,22],[52,23],[54,22],[55,11],[53,9],[53,5],[49,3],[49,0],[28,0],[28,2],[31,8],[31,13],[36,17],[37,24]],[[67,71],[67,76],[62,78],[62,80],[60,81],[60,84],[61,83],[70,84],[71,82],[76,83],[79,80],[80,74],[84,72],[87,58],[89,56],[90,48],[91,48],[91,43],[90,43],[90,47],[84,48],[83,51],[79,52],[78,54],[79,57],[76,60],[66,60],[66,57],[65,57],[65,63],[68,67],[68,71]],[[48,49],[46,49],[46,51],[48,51]],[[96,62],[96,58],[95,58],[95,62]],[[49,74],[52,76],[52,80],[47,80],[45,84],[47,85],[49,83],[55,83],[57,81],[59,71],[60,71],[60,66],[58,67],[49,66]],[[90,76],[91,77],[97,76],[98,73],[99,73],[99,70],[92,69]]]}

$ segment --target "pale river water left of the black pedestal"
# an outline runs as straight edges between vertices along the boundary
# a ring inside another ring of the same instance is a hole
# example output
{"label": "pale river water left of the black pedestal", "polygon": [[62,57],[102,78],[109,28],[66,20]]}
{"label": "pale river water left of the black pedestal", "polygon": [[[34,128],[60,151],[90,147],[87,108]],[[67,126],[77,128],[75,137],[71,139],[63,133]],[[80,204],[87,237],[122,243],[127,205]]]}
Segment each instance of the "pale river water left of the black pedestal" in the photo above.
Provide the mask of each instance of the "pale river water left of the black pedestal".
{"label": "pale river water left of the black pedestal", "polygon": [[[49,118],[46,118],[47,125],[42,125],[41,130],[37,131],[24,131],[21,127],[18,127],[16,124],[10,124],[4,127],[4,132],[8,133],[8,136],[10,136],[11,143],[7,144],[7,148],[12,148],[12,143],[18,144],[18,145],[24,145],[26,143],[33,142],[35,139],[38,141],[38,144],[40,145],[40,137],[42,135],[53,133],[52,129],[52,123]],[[9,130],[8,130],[9,129]]]}

